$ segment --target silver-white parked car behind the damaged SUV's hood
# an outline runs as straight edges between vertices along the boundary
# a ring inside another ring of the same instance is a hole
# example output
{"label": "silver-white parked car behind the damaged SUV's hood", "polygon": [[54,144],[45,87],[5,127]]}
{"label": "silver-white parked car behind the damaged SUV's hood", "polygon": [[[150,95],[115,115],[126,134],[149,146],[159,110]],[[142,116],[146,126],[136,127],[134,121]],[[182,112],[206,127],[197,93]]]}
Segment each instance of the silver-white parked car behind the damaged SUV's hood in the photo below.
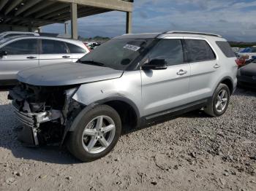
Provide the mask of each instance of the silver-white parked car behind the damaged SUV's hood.
{"label": "silver-white parked car behind the damaged SUV's hood", "polygon": [[83,42],[45,36],[14,36],[0,41],[0,86],[15,85],[18,71],[76,62],[89,50]]}

